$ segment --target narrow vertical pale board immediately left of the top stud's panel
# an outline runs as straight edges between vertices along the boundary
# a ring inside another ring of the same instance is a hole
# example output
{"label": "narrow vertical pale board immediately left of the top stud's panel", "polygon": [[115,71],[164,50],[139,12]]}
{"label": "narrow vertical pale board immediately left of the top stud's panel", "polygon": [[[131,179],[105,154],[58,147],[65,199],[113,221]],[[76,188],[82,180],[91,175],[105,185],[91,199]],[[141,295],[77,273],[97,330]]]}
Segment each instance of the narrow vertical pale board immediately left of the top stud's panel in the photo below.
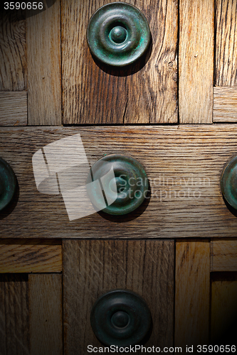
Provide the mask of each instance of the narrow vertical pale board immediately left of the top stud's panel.
{"label": "narrow vertical pale board immediately left of the top stud's panel", "polygon": [[27,18],[27,62],[28,124],[60,125],[60,0]]}

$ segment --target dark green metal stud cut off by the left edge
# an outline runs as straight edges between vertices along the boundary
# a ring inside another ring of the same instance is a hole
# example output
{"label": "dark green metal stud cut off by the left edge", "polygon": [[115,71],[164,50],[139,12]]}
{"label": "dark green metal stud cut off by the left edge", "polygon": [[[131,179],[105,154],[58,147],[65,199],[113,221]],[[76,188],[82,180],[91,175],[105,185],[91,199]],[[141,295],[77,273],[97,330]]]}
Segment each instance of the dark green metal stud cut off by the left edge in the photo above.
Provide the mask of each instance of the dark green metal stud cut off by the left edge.
{"label": "dark green metal stud cut off by the left edge", "polygon": [[11,202],[15,191],[16,175],[11,166],[0,158],[0,211]]}

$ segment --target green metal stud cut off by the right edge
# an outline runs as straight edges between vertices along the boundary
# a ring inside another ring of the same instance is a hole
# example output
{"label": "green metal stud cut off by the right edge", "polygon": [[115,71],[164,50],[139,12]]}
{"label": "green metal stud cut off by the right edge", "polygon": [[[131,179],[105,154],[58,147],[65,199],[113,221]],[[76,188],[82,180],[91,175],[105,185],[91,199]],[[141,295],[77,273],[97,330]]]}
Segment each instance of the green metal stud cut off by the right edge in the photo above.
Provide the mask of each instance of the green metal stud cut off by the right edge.
{"label": "green metal stud cut off by the right edge", "polygon": [[221,192],[234,209],[237,209],[237,156],[226,165],[221,175]]}

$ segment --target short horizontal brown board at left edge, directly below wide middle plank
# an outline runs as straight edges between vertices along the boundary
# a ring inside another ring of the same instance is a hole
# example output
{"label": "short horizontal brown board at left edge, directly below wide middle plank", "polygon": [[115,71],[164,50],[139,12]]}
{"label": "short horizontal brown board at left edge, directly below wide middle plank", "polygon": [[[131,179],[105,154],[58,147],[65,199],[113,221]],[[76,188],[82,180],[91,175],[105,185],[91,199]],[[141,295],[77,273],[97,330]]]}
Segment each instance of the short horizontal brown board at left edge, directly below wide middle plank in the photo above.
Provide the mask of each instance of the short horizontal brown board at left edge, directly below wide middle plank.
{"label": "short horizontal brown board at left edge, directly below wide middle plank", "polygon": [[62,246],[51,241],[0,241],[0,273],[60,273]]}

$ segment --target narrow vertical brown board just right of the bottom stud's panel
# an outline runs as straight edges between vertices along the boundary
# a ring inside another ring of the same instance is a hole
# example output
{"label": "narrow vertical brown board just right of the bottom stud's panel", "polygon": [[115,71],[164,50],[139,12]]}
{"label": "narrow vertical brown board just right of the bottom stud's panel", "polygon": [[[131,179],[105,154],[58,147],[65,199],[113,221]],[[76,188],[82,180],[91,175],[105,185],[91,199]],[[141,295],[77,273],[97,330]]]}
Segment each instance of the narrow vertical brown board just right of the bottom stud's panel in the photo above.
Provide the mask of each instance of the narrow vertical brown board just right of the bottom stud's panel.
{"label": "narrow vertical brown board just right of the bottom stud's panel", "polygon": [[209,241],[176,242],[175,346],[209,343]]}

